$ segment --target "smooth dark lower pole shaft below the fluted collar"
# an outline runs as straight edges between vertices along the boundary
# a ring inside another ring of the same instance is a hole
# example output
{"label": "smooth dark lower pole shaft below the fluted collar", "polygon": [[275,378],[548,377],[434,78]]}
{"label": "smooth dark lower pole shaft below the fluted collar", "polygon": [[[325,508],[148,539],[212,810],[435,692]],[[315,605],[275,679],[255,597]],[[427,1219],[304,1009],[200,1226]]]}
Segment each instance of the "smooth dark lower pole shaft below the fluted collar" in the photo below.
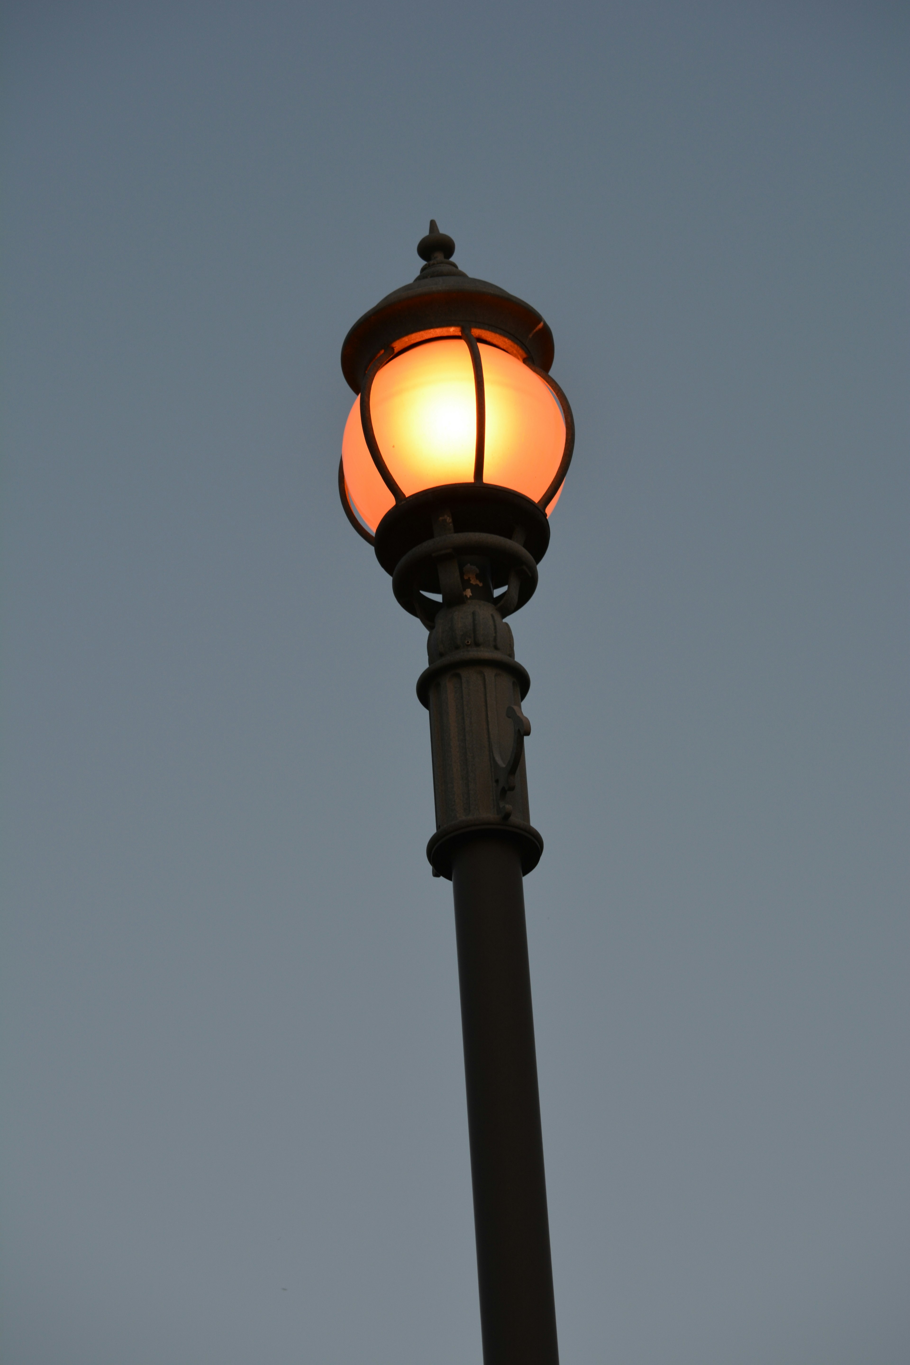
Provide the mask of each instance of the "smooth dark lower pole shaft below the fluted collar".
{"label": "smooth dark lower pole shaft below the fluted collar", "polygon": [[557,1365],[521,856],[482,835],[452,857],[484,1365]]}

